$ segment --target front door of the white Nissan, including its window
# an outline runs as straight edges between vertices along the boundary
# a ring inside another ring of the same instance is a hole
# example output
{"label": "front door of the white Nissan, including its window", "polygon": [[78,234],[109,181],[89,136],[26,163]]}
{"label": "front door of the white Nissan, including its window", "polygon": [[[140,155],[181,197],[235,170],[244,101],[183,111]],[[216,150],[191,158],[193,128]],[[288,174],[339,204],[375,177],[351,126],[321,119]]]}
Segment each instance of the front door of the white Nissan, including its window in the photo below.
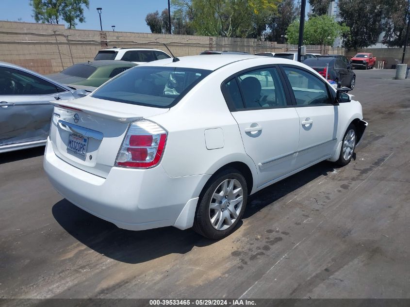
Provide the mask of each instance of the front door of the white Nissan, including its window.
{"label": "front door of the white Nissan, including its window", "polygon": [[327,159],[337,143],[338,107],[325,81],[301,67],[283,65],[299,115],[300,138],[296,166]]}

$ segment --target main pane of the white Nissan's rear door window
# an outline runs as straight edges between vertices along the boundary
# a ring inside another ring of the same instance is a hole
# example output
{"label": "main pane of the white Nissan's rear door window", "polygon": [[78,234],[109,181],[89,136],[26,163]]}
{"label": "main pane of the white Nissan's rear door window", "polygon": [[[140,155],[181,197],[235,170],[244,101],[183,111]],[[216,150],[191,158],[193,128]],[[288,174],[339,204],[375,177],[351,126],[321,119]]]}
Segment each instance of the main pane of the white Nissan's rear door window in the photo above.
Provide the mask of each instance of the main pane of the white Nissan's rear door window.
{"label": "main pane of the white Nissan's rear door window", "polygon": [[285,93],[276,68],[262,68],[238,77],[246,109],[284,107]]}

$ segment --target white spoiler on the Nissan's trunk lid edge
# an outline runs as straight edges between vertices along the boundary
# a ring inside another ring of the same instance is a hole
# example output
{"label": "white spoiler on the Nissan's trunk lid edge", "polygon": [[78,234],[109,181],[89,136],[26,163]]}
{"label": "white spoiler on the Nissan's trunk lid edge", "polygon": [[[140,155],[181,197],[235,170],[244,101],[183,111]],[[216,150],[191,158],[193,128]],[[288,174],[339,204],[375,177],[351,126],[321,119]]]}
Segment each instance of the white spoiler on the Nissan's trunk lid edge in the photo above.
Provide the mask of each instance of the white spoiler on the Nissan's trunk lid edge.
{"label": "white spoiler on the Nissan's trunk lid edge", "polygon": [[90,108],[89,106],[73,103],[71,100],[61,100],[61,101],[50,101],[55,107],[69,109],[72,111],[82,111],[84,113],[95,115],[98,117],[108,118],[111,120],[115,120],[117,122],[122,123],[129,123],[138,119],[143,118],[144,116],[139,116],[130,113],[123,113],[118,111],[106,110],[106,109],[98,109],[96,107]]}

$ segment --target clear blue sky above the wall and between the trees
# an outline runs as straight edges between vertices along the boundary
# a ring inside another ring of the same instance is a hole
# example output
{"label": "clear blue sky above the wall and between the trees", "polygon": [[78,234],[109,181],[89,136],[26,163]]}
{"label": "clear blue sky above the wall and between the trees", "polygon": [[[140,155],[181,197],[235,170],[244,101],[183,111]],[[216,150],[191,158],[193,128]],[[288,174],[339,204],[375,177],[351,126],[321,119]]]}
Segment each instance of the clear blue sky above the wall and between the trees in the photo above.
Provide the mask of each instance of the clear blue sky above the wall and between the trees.
{"label": "clear blue sky above the wall and between the trees", "polygon": [[[29,0],[0,0],[0,20],[35,22],[33,8]],[[148,32],[145,22],[148,13],[168,7],[168,0],[90,0],[90,9],[84,9],[85,23],[79,23],[77,29],[99,30],[97,7],[102,8],[102,30],[125,32]],[[171,7],[172,12],[172,7]],[[306,5],[309,12],[309,3]],[[62,21],[64,22],[64,21]]]}

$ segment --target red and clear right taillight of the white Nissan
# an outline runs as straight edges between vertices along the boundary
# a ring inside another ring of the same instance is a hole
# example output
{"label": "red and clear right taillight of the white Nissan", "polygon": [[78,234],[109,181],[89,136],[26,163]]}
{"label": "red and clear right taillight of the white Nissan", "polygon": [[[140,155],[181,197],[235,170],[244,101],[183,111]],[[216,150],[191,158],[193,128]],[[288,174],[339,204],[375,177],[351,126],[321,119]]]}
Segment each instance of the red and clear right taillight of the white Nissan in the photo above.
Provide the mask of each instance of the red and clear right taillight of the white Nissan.
{"label": "red and clear right taillight of the white Nissan", "polygon": [[167,132],[143,119],[131,124],[115,160],[116,166],[148,168],[157,165],[164,153]]}

